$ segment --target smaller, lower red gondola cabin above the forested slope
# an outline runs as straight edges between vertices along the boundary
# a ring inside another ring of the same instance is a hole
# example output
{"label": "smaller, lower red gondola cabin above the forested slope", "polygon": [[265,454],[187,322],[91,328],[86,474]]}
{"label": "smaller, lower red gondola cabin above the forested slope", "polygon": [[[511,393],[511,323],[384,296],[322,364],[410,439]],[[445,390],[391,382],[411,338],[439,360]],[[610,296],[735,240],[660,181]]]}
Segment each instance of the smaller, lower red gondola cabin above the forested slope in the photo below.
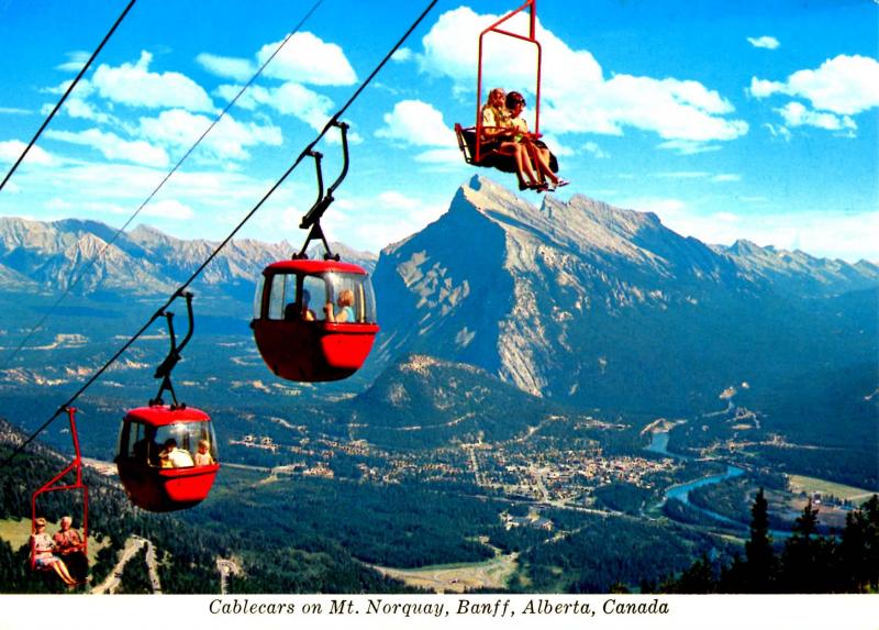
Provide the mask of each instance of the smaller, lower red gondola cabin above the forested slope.
{"label": "smaller, lower red gondola cabin above the forested slope", "polygon": [[[167,457],[170,440],[176,449]],[[132,409],[122,420],[119,477],[142,509],[168,512],[198,505],[211,491],[220,469],[216,462],[211,418],[204,411],[154,405]]]}

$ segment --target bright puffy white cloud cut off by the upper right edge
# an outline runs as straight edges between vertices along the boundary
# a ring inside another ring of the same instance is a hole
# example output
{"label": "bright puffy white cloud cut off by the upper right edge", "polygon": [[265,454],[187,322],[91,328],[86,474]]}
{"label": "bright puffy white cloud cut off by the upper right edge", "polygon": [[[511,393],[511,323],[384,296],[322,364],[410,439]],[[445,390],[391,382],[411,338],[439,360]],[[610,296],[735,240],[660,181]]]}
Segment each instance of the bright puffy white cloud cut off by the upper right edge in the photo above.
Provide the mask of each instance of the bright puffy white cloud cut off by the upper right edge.
{"label": "bright puffy white cloud cut off by the upper right edge", "polygon": [[860,55],[838,55],[817,69],[798,70],[783,82],[753,77],[750,93],[756,98],[775,93],[800,97],[816,110],[854,115],[879,107],[879,62]]}

